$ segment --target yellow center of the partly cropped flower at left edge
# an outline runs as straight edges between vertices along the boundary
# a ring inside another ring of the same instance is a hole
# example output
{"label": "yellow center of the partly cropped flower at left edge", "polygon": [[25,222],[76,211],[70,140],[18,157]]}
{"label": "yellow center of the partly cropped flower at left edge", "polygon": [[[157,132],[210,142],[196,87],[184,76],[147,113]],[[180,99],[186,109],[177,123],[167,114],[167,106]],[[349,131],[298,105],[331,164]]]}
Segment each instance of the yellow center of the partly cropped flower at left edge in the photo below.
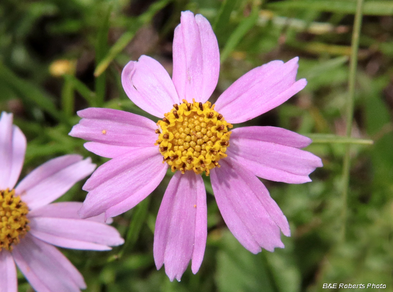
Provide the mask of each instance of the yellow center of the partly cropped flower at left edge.
{"label": "yellow center of the partly cropped flower at left edge", "polygon": [[12,250],[12,245],[19,243],[30,230],[30,222],[26,215],[28,206],[15,197],[15,190],[0,190],[0,251],[1,249]]}

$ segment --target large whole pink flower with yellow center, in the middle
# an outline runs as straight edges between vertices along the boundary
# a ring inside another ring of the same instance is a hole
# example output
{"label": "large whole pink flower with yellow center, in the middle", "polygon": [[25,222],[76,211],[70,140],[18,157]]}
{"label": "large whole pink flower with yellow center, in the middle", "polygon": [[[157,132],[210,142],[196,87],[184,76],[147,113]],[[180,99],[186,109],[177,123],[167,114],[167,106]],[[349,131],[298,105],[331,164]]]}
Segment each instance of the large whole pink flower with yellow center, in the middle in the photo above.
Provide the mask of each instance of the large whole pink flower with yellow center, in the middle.
{"label": "large whole pink flower with yellow center, in the middle", "polygon": [[70,135],[92,141],[84,144],[86,149],[112,158],[84,185],[88,194],[80,215],[105,212],[112,217],[133,208],[158,186],[170,166],[176,173],[158,212],[153,249],[157,268],[165,264],[169,279],[180,281],[191,259],[194,273],[203,259],[206,192],[199,174],[205,171],[226,225],[244,247],[253,253],[261,247],[283,247],[280,230],[290,236],[288,222],[257,176],[309,182],[321,159],[300,150],[311,143],[308,137],[288,130],[228,129],[230,123],[250,120],[303,89],[306,80],[295,81],[297,61],[272,61],[253,69],[211,106],[207,100],[219,76],[218,43],[202,15],[182,12],[174,33],[172,80],[156,60],[144,55],[122,73],[128,97],[161,118],[158,127],[120,110],[78,112],[83,119]]}

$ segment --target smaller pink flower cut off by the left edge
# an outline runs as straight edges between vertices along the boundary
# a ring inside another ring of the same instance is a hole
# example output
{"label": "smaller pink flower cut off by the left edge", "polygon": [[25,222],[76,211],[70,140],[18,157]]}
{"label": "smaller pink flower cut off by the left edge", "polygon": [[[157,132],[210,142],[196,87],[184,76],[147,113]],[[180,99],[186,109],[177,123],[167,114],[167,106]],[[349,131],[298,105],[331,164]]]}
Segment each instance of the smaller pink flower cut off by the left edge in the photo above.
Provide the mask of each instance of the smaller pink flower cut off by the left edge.
{"label": "smaller pink flower cut off by the left edge", "polygon": [[[79,155],[49,160],[15,188],[26,152],[26,137],[0,118],[0,291],[17,292],[16,265],[37,292],[77,292],[86,288],[79,271],[60,253],[64,248],[109,250],[124,242],[104,216],[81,219],[82,203],[53,203],[95,164]],[[53,244],[53,245],[52,245]]]}

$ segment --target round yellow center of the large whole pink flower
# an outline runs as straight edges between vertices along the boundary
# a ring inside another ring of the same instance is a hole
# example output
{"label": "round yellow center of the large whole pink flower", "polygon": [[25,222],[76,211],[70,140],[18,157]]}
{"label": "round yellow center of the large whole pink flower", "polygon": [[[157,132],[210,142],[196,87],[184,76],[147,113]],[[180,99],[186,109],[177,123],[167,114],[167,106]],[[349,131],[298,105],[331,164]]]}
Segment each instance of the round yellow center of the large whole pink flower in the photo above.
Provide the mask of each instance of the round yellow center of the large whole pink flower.
{"label": "round yellow center of the large whole pink flower", "polygon": [[214,105],[188,103],[173,105],[165,118],[158,121],[160,129],[155,145],[160,145],[160,152],[164,156],[172,172],[180,170],[194,170],[201,174],[220,164],[218,161],[226,157],[226,147],[229,146],[228,132],[232,125],[227,123],[222,114],[214,110]]}

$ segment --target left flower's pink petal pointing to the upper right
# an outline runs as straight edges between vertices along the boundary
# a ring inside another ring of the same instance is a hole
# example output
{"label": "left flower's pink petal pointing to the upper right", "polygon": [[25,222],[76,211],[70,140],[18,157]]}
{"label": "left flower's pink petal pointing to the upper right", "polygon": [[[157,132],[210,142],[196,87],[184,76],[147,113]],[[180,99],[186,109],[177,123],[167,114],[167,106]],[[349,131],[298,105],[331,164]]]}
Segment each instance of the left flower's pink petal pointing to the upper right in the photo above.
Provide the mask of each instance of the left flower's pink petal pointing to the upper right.
{"label": "left flower's pink petal pointing to the upper right", "polygon": [[45,162],[16,186],[16,194],[23,196],[30,210],[53,202],[93,172],[96,165],[91,159],[82,159],[80,155],[64,155]]}

